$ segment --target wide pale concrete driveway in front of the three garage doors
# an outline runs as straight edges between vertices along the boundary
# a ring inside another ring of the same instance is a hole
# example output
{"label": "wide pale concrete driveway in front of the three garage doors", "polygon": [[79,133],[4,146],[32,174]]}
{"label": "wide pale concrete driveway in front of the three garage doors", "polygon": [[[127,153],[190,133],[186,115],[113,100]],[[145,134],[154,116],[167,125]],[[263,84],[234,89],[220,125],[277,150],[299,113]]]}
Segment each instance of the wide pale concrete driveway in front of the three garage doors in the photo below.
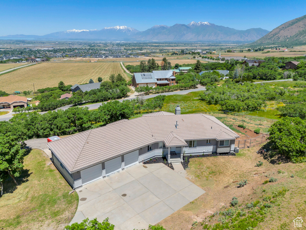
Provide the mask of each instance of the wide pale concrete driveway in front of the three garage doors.
{"label": "wide pale concrete driveway in front of the three garage doors", "polygon": [[76,190],[79,206],[70,224],[109,217],[116,230],[147,229],[205,193],[184,172],[181,163],[175,171],[141,163],[91,182]]}

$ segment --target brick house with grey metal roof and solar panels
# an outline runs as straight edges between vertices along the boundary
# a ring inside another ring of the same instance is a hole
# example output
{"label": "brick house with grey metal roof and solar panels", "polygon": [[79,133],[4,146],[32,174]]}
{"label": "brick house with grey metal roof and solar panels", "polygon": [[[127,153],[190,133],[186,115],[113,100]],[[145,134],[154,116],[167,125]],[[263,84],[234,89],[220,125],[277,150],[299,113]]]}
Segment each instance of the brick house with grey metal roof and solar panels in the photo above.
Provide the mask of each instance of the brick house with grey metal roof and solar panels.
{"label": "brick house with grey metal roof and solar panels", "polygon": [[155,88],[156,86],[173,86],[175,85],[176,71],[172,70],[158,70],[152,73],[134,73],[132,77],[132,86],[137,88],[139,86],[149,86]]}

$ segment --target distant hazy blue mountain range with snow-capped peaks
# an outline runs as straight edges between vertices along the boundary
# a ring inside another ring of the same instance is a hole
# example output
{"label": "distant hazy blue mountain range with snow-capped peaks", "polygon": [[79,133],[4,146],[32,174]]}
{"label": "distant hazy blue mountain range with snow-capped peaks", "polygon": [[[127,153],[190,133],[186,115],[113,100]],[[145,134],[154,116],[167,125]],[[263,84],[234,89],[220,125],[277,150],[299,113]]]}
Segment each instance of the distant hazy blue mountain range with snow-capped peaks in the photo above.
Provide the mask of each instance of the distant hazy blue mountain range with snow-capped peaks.
{"label": "distant hazy blue mountain range with snow-capped peaks", "polygon": [[[123,41],[241,41],[252,42],[269,33],[268,30],[252,28],[237,30],[209,22],[190,22],[188,25],[173,26],[155,25],[145,31],[138,31],[127,26],[105,27],[101,30],[71,29],[43,36],[38,35],[7,35],[2,38],[35,38],[58,40],[123,40]],[[1,38],[1,37],[0,37]]]}

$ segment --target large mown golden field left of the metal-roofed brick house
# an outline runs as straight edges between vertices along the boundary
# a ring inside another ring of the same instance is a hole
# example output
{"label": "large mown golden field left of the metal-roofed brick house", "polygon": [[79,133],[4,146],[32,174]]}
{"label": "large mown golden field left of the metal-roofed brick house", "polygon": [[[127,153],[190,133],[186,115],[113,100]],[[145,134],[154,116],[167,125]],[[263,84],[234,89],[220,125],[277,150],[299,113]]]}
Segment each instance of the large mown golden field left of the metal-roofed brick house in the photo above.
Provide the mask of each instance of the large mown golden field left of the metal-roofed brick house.
{"label": "large mown golden field left of the metal-roofed brick house", "polygon": [[32,90],[33,83],[35,89],[41,89],[58,86],[60,81],[65,85],[83,84],[89,79],[97,82],[98,77],[102,77],[105,81],[112,73],[116,75],[120,73],[128,79],[120,63],[40,63],[1,75],[0,90],[7,93]]}

